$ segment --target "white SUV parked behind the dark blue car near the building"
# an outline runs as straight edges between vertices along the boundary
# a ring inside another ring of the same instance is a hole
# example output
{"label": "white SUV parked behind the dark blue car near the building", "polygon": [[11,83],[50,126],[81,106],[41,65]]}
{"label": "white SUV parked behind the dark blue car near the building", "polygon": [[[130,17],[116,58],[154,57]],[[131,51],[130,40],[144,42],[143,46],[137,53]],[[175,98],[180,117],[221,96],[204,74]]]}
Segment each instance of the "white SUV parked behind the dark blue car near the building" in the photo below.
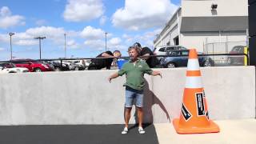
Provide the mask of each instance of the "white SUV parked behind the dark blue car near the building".
{"label": "white SUV parked behind the dark blue car near the building", "polygon": [[[187,50],[184,46],[160,46],[156,47],[153,50],[154,55],[166,55],[167,51],[170,50]],[[161,59],[162,57],[157,57],[158,59]]]}

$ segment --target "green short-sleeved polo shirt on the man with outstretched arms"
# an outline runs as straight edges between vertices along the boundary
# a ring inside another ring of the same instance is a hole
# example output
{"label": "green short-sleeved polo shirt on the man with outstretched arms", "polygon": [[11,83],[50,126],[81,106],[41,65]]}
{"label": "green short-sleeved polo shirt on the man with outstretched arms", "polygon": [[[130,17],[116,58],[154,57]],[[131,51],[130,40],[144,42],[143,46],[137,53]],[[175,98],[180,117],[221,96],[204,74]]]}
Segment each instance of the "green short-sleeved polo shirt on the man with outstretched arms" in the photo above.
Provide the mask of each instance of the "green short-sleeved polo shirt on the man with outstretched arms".
{"label": "green short-sleeved polo shirt on the man with outstretched arms", "polygon": [[135,90],[143,90],[145,86],[144,74],[152,74],[153,70],[142,59],[136,62],[126,62],[121,70],[118,70],[118,75],[126,74],[126,83],[124,86],[129,86]]}

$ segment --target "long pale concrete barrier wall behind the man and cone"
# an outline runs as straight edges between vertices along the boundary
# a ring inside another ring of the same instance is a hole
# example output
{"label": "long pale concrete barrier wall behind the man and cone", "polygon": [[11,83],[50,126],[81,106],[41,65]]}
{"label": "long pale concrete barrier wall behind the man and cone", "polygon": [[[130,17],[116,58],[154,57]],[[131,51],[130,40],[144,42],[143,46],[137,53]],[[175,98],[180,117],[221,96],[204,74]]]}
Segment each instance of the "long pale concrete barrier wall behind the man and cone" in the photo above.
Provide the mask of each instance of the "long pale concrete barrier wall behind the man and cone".
{"label": "long pale concrete barrier wall behind the man and cone", "polygon": [[[170,122],[181,110],[186,68],[159,70],[163,78],[145,77],[145,122]],[[123,123],[125,76],[107,81],[115,71],[1,74],[0,125]],[[202,68],[202,81],[211,119],[255,117],[254,66]]]}

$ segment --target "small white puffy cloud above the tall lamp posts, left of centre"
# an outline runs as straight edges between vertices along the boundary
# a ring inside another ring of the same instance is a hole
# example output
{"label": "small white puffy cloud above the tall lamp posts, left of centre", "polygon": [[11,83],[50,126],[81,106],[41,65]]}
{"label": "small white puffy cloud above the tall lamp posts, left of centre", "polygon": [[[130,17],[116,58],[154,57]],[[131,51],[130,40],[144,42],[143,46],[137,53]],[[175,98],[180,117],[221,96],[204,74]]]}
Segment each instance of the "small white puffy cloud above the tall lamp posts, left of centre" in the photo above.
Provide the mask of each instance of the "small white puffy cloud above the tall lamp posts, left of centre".
{"label": "small white puffy cloud above the tall lamp posts, left of centre", "polygon": [[105,32],[102,29],[96,29],[92,26],[86,26],[81,32],[82,38],[86,39],[102,39],[105,38]]}

